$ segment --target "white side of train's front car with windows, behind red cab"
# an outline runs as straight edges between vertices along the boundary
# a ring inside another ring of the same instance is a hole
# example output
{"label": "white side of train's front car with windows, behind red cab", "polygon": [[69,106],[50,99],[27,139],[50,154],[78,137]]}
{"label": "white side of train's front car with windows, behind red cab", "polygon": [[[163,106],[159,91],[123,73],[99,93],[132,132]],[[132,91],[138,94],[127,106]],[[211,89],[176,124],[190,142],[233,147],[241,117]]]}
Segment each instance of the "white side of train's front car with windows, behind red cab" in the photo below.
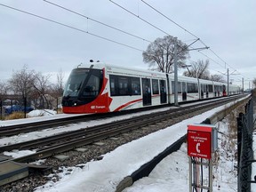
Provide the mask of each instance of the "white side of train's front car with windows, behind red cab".
{"label": "white side of train's front car with windows, behind red cab", "polygon": [[146,108],[168,102],[164,74],[107,66],[106,76],[112,99],[110,111]]}

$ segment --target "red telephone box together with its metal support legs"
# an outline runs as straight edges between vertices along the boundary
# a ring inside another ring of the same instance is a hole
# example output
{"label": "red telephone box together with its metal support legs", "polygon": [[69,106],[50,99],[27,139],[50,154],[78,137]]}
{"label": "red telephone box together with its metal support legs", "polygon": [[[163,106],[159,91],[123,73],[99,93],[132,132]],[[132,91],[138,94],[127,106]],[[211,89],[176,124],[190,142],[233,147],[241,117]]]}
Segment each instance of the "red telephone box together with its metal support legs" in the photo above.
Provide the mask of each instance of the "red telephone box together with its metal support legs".
{"label": "red telephone box together with its metal support legs", "polygon": [[[217,150],[217,129],[212,124],[188,125],[189,192],[206,189],[212,192],[212,153]],[[204,166],[209,169],[204,180]],[[205,183],[207,181],[208,183]],[[193,190],[194,191],[194,190]]]}

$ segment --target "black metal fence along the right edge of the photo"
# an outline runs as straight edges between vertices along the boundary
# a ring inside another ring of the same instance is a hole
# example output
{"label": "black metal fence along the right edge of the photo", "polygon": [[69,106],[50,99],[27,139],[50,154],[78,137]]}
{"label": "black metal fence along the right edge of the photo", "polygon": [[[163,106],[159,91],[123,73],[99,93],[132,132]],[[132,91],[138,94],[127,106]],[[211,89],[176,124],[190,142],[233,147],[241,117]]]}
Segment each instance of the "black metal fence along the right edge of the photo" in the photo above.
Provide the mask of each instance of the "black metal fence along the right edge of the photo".
{"label": "black metal fence along the right edge of the photo", "polygon": [[256,162],[253,160],[252,132],[253,100],[249,100],[245,106],[245,113],[240,113],[237,117],[237,191],[239,192],[251,192],[251,183],[256,182],[251,180],[252,163]]}

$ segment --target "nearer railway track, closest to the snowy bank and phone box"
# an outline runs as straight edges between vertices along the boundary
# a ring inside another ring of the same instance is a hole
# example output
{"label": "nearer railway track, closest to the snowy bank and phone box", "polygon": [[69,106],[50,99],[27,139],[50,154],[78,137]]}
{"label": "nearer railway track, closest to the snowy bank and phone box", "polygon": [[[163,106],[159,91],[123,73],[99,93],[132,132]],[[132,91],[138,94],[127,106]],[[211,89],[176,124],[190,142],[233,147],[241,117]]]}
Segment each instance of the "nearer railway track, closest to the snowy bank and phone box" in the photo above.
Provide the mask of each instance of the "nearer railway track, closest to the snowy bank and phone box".
{"label": "nearer railway track, closest to the snowy bank and phone box", "polygon": [[52,156],[53,154],[88,145],[98,140],[104,140],[124,132],[131,132],[132,130],[139,129],[140,127],[148,126],[149,124],[163,123],[166,120],[174,120],[178,117],[180,118],[180,116],[188,118],[186,116],[192,112],[195,113],[195,111],[197,111],[198,113],[201,113],[232,100],[237,100],[237,97],[214,102],[199,103],[183,108],[169,109],[166,111],[156,112],[154,114],[135,116],[130,119],[124,119],[109,124],[101,124],[81,130],[64,132],[39,140],[30,140],[27,142],[4,146],[0,148],[0,152],[10,151],[12,149],[36,149],[35,154],[12,159],[16,162],[28,163],[37,159]]}

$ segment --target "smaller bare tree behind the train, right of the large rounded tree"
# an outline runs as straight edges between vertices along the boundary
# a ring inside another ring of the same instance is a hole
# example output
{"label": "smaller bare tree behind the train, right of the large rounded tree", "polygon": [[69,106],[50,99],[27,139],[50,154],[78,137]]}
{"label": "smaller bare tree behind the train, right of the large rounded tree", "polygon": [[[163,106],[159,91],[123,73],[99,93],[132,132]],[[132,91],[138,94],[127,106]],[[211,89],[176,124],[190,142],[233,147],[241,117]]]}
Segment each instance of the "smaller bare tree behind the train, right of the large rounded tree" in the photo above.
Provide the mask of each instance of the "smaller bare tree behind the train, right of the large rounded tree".
{"label": "smaller bare tree behind the train, right of the large rounded tree", "polygon": [[209,60],[197,60],[191,63],[191,68],[183,73],[184,76],[191,76],[201,79],[210,79],[210,72],[208,70]]}

